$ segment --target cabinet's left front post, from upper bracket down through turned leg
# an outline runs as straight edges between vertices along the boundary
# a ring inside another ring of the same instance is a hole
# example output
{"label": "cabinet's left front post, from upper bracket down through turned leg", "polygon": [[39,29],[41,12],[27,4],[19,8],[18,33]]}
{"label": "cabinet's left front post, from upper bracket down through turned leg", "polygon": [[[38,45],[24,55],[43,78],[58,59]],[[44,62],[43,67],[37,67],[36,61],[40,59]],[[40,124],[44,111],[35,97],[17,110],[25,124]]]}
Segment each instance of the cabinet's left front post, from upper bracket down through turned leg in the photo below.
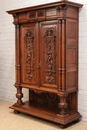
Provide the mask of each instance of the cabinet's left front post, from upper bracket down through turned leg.
{"label": "cabinet's left front post, from upper bracket down through turned leg", "polygon": [[17,100],[17,105],[22,105],[22,100],[21,98],[23,97],[22,94],[22,88],[20,87],[21,83],[21,78],[20,78],[20,70],[21,70],[21,65],[20,65],[20,42],[19,42],[19,25],[18,25],[18,16],[14,15],[14,24],[15,24],[15,69],[16,69],[16,83],[15,87],[17,88],[17,94],[16,97],[18,98]]}

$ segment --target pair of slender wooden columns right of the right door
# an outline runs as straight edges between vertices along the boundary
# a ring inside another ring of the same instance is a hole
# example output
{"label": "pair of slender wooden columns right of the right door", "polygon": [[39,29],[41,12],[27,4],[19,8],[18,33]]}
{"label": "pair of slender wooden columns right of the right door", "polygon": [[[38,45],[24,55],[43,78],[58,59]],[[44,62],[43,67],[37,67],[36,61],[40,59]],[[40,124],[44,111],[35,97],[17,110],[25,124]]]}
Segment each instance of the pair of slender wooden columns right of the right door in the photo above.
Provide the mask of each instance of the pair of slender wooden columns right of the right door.
{"label": "pair of slender wooden columns right of the right door", "polygon": [[65,20],[59,23],[59,91],[65,91]]}

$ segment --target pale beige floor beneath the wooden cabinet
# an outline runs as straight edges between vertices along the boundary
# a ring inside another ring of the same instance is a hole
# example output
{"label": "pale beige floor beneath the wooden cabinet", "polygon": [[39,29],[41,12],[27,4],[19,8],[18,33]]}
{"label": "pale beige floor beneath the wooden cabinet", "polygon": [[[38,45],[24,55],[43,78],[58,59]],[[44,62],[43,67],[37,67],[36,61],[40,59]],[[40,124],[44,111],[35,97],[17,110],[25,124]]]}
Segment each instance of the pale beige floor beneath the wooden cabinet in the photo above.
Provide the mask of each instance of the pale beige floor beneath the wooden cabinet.
{"label": "pale beige floor beneath the wooden cabinet", "polygon": [[[0,101],[0,130],[62,130],[58,124],[26,114],[14,114],[11,102]],[[64,130],[87,130],[87,123],[78,122]]]}

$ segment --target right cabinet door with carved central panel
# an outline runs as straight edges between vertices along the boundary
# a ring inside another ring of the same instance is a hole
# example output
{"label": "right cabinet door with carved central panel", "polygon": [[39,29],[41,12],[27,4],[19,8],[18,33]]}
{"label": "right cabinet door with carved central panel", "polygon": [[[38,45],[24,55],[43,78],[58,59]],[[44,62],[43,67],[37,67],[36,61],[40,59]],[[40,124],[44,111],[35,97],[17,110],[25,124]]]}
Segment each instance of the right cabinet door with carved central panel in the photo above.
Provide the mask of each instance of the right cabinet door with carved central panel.
{"label": "right cabinet door with carved central panel", "polygon": [[58,22],[40,23],[40,85],[58,88]]}

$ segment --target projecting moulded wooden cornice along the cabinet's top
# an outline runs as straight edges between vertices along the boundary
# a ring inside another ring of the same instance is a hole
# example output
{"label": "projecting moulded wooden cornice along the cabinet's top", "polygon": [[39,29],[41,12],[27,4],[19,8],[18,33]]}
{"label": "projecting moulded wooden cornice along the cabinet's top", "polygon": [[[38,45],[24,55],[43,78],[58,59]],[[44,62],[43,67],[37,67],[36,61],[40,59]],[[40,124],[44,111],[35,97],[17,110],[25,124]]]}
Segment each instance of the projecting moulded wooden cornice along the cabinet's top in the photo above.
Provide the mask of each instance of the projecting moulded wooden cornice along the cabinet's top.
{"label": "projecting moulded wooden cornice along the cabinet's top", "polygon": [[82,4],[79,4],[76,2],[61,0],[58,2],[46,3],[46,4],[36,5],[36,6],[15,9],[15,10],[9,10],[6,12],[9,14],[15,14],[15,13],[21,13],[21,12],[25,12],[25,11],[34,11],[36,9],[38,10],[38,9],[43,9],[43,8],[57,7],[58,5],[68,5],[68,6],[73,6],[73,7],[77,7],[77,8],[81,8],[83,6]]}

